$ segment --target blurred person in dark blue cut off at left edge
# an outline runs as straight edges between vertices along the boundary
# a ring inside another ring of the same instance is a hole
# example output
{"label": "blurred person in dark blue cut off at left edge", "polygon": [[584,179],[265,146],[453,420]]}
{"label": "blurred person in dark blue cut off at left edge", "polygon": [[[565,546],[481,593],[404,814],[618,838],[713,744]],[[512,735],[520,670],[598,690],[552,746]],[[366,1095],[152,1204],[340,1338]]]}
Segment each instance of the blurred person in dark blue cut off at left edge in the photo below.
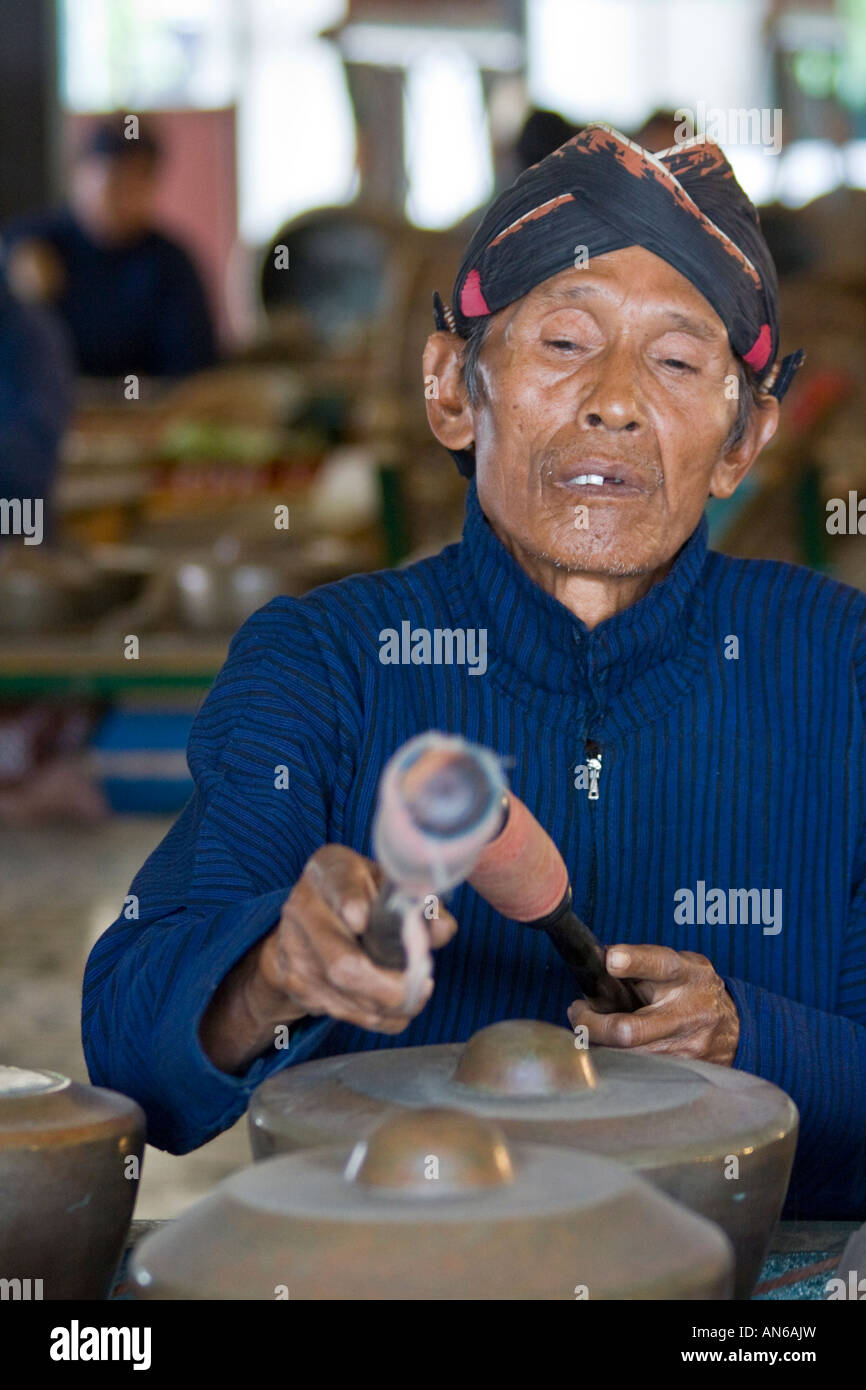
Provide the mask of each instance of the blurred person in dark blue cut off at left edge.
{"label": "blurred person in dark blue cut off at left edge", "polygon": [[31,528],[39,518],[28,545],[50,538],[50,493],[71,409],[72,364],[63,325],[49,310],[21,304],[0,278],[0,499],[26,503],[7,506],[0,517],[0,549],[21,535],[6,518],[22,516]]}

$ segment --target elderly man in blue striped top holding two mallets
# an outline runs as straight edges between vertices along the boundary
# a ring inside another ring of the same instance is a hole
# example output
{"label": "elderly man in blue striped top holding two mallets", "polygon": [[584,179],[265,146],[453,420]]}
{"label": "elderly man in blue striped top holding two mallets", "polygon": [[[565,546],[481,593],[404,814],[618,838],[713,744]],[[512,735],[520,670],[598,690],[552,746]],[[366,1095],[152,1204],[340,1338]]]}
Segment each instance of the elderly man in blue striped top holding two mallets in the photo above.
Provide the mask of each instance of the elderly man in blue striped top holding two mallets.
{"label": "elderly man in blue striped top holding two mallets", "polygon": [[[190,738],[195,795],[88,965],[93,1080],[185,1151],[295,1062],[570,1017],[783,1086],[788,1211],[862,1212],[866,598],[709,552],[702,514],[771,438],[799,360],[776,360],[755,210],[716,146],[652,156],[591,126],[495,202],[436,303],[428,411],[473,475],[463,539],[277,599],[235,637]],[[382,659],[405,623],[484,634],[485,660],[425,664],[414,638]],[[509,759],[642,1008],[575,1001],[548,938],[466,884],[414,1008],[359,948],[379,773],[428,728]]]}

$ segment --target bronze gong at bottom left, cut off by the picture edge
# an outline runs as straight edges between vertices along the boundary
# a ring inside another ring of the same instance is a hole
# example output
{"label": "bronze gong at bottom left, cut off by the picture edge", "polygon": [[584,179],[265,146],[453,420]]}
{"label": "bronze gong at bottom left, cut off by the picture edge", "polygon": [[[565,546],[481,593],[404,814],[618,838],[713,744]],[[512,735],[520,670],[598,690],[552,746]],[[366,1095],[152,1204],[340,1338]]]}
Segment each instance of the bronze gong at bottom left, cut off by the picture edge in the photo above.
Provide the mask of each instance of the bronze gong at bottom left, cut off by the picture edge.
{"label": "bronze gong at bottom left, cut off by the picture edge", "polygon": [[108,1295],[143,1148],[135,1101],[0,1066],[0,1279],[11,1297]]}

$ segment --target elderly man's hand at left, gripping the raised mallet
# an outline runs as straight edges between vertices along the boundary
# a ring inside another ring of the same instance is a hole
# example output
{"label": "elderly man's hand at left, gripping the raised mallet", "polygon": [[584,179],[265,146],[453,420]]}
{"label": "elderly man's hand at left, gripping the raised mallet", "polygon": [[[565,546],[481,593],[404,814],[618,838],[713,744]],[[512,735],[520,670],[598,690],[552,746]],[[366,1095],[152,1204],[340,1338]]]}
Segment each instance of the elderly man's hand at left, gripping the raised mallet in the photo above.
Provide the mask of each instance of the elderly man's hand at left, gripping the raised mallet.
{"label": "elderly man's hand at left, gripping the raised mallet", "polygon": [[[329,1015],[377,1033],[402,1033],[421,1012],[407,972],[374,965],[359,944],[382,872],[346,845],[322,845],[307,860],[277,927],[227,974],[202,1020],[202,1047],[214,1066],[239,1073],[272,1041],[279,1024]],[[428,923],[431,945],[457,930],[452,915]]]}

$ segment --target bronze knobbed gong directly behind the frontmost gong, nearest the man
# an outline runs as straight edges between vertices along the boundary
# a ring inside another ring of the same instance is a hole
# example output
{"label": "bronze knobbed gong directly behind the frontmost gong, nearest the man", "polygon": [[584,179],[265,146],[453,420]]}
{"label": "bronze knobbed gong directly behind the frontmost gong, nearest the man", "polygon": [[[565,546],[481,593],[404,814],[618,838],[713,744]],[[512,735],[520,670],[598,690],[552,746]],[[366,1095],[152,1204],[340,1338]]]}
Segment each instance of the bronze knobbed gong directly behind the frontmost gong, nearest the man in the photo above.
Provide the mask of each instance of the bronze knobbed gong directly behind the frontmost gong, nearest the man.
{"label": "bronze knobbed gong directly behind the frontmost gong, nearest the man", "polygon": [[518,1019],[466,1045],[357,1052],[281,1072],[250,1102],[253,1156],[363,1138],[384,1116],[427,1105],[484,1115],[513,1140],[627,1163],[727,1233],[734,1297],[749,1297],[796,1147],[796,1108],[769,1081],[706,1062],[577,1048],[567,1029]]}

